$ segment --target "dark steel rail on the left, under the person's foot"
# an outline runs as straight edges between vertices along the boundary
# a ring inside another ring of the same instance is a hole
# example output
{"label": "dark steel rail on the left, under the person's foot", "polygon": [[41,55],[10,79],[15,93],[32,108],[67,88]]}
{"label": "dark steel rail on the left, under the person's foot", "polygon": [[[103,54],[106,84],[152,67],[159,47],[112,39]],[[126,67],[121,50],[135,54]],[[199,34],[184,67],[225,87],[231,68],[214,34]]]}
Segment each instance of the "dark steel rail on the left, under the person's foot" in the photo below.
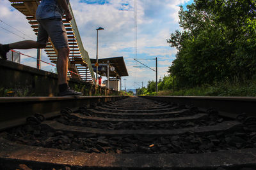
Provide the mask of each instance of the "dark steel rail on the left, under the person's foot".
{"label": "dark steel rail on the left, under the person's foot", "polygon": [[0,97],[0,131],[26,123],[26,118],[40,113],[45,118],[56,117],[65,108],[76,110],[92,103],[116,101],[127,96],[86,97]]}

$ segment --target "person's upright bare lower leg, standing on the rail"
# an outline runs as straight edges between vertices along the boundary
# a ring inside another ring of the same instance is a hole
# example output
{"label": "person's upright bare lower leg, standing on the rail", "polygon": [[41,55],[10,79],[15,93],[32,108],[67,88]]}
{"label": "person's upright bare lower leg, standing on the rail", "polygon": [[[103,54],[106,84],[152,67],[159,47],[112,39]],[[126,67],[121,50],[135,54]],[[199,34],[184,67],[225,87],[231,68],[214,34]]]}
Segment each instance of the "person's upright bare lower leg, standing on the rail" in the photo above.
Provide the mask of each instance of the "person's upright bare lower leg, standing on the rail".
{"label": "person's upright bare lower leg, standing on the rail", "polygon": [[58,49],[57,71],[58,85],[67,83],[69,48]]}

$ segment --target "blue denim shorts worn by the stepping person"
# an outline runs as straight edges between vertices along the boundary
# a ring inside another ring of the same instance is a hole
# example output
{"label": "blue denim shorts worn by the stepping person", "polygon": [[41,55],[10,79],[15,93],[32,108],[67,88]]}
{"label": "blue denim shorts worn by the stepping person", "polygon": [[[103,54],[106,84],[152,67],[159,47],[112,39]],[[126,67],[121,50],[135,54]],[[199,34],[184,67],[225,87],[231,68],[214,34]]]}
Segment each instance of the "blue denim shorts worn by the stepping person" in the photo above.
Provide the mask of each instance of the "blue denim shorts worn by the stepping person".
{"label": "blue denim shorts worn by the stepping person", "polygon": [[47,45],[49,38],[56,49],[68,47],[67,32],[61,18],[38,20],[37,42]]}

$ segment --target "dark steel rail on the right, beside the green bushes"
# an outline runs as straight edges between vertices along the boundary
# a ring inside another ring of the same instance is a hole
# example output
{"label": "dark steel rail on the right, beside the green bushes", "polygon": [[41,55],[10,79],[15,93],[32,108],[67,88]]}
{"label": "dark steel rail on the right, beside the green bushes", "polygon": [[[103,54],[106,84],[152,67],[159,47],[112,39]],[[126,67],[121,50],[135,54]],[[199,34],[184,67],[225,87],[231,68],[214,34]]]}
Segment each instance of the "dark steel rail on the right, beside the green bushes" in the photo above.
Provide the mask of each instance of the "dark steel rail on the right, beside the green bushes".
{"label": "dark steel rail on the right, beside the green bushes", "polygon": [[209,97],[209,96],[140,96],[154,101],[194,105],[205,111],[213,108],[223,117],[236,118],[241,113],[256,116],[256,97]]}

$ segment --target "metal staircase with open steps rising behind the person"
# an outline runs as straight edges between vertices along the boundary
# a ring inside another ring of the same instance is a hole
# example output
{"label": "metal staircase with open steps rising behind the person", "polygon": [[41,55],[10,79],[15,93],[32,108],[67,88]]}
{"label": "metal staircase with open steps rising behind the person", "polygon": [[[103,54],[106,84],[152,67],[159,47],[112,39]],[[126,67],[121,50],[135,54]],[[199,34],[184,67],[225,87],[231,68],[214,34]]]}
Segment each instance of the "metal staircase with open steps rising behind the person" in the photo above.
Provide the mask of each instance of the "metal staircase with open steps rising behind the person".
{"label": "metal staircase with open steps rising behind the person", "polygon": [[[38,32],[38,22],[35,18],[35,12],[37,6],[40,4],[38,0],[9,0],[12,6],[24,14],[31,24],[35,34]],[[68,5],[70,13],[73,19],[68,22],[65,17],[63,18],[63,24],[67,31],[68,46],[70,48],[69,60],[68,60],[68,76],[82,81],[90,81],[95,83],[95,76],[93,73],[92,64],[88,52],[84,50],[83,43],[79,31],[77,29],[76,20],[72,12],[70,4]],[[57,62],[57,50],[51,43],[51,39],[47,43],[45,52],[48,55],[51,62]]]}

